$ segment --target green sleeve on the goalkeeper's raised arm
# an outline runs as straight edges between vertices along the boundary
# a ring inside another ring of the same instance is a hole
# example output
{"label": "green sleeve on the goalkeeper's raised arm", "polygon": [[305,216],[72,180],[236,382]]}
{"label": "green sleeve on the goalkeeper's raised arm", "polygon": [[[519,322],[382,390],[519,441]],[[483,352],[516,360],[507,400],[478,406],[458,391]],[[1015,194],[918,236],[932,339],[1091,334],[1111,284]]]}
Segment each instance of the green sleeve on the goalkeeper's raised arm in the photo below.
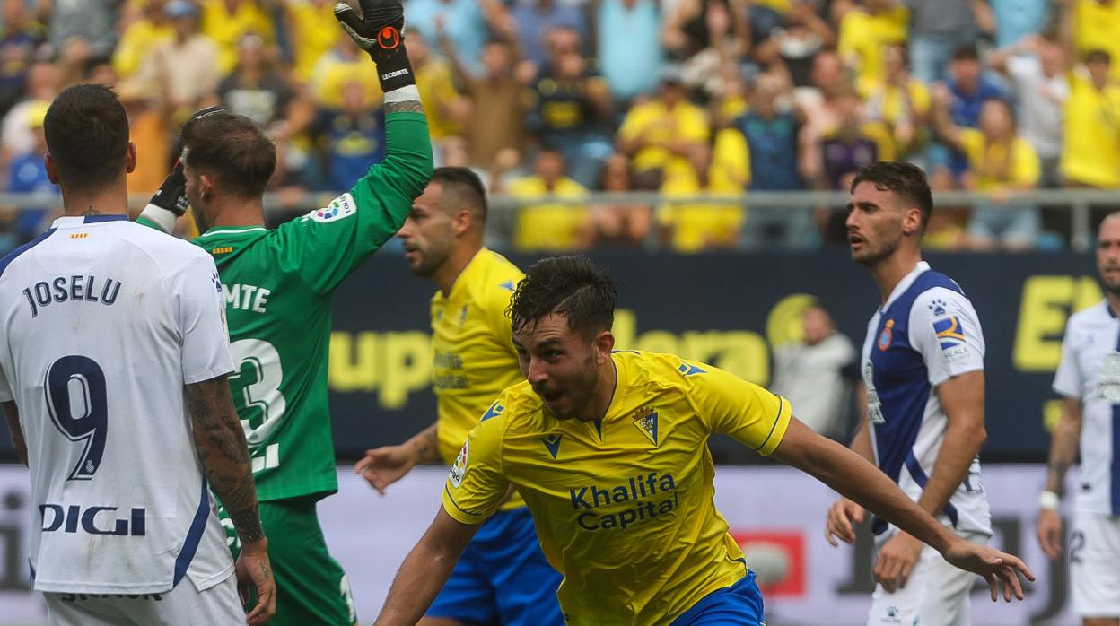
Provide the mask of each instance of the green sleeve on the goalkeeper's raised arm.
{"label": "green sleeve on the goalkeeper's raised arm", "polygon": [[333,291],[404,224],[431,179],[421,113],[385,115],[385,159],[324,208],[277,228],[282,263],[319,293]]}

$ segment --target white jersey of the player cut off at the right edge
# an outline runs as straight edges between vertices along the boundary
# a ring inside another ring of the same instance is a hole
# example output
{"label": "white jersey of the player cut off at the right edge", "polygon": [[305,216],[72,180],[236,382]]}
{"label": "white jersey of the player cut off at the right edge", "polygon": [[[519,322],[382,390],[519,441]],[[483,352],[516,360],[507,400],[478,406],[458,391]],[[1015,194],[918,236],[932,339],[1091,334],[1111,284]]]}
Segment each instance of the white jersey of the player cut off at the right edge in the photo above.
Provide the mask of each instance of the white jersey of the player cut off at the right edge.
{"label": "white jersey of the player cut off at the right edge", "polygon": [[1108,301],[1070,317],[1054,391],[1081,401],[1074,506],[1120,515],[1120,320]]}

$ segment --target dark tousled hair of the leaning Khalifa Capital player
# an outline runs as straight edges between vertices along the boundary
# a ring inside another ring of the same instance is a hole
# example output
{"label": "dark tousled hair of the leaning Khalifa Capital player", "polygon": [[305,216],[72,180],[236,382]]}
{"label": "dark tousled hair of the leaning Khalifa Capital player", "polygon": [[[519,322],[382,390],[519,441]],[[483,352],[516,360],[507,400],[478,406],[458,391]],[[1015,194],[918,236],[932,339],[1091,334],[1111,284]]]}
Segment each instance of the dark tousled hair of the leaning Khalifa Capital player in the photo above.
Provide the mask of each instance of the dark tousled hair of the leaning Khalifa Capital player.
{"label": "dark tousled hair of the leaning Khalifa Capital player", "polygon": [[520,331],[549,314],[563,315],[568,327],[588,338],[615,323],[615,279],[586,256],[553,256],[529,267],[506,312]]}

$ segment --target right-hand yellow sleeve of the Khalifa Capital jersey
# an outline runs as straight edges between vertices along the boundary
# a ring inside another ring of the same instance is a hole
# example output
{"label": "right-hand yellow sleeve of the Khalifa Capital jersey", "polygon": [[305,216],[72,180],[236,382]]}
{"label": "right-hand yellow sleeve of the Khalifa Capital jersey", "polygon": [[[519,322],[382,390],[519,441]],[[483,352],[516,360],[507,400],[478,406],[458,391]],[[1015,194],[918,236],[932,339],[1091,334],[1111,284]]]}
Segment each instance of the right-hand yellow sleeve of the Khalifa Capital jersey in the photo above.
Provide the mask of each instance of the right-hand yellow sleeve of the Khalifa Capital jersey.
{"label": "right-hand yellow sleeve of the Khalifa Capital jersey", "polygon": [[729,435],[763,456],[777,448],[793,414],[788,400],[710,365],[681,366],[691,382],[689,393],[712,432]]}

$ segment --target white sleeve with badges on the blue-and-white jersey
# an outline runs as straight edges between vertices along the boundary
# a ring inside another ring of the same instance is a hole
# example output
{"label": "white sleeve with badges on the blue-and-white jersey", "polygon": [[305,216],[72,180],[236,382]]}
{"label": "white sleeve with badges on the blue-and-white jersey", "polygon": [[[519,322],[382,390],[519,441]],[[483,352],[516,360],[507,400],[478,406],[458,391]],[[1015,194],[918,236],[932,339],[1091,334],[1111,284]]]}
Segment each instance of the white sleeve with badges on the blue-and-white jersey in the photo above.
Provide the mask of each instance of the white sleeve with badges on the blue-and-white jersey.
{"label": "white sleeve with badges on the blue-and-white jersey", "polygon": [[909,317],[911,345],[925,362],[930,384],[983,370],[983,330],[972,302],[943,287],[914,299]]}

